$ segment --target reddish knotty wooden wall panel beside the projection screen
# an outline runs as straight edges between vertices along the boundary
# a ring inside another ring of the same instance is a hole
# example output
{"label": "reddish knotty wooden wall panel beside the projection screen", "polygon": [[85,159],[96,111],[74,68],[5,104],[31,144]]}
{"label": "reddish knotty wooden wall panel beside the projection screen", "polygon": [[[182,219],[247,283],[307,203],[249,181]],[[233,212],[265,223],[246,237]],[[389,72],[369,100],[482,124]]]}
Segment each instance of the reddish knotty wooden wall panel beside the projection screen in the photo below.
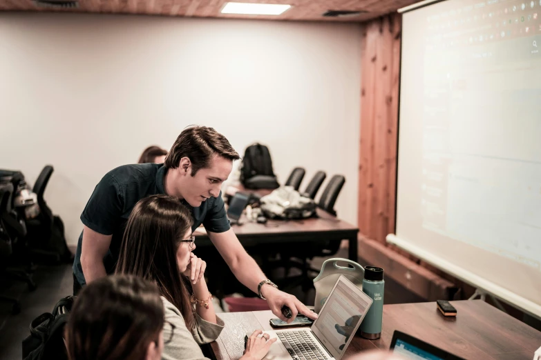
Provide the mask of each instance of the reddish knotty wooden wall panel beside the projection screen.
{"label": "reddish knotty wooden wall panel beside the projection screen", "polygon": [[385,242],[395,229],[401,15],[363,23],[359,230]]}

